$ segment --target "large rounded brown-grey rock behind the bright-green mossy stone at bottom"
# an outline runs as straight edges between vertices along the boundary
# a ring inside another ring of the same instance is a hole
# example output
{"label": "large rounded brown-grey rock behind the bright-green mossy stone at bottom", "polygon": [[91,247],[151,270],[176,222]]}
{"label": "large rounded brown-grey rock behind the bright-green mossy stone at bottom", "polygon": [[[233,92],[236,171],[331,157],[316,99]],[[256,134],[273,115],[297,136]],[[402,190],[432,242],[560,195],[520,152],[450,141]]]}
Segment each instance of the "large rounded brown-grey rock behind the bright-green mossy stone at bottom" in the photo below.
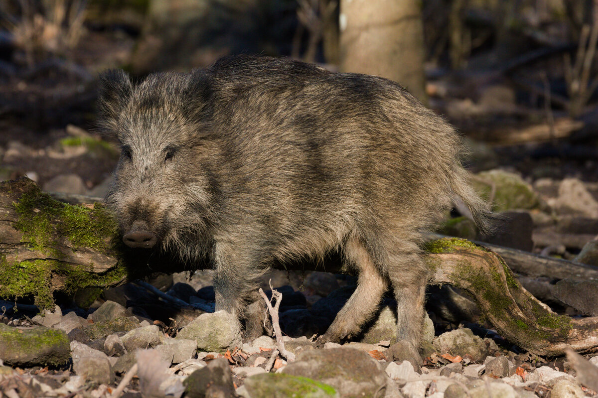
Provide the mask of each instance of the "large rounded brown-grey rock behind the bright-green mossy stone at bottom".
{"label": "large rounded brown-grey rock behind the bright-green mossy stone at bottom", "polygon": [[376,360],[350,348],[305,351],[282,373],[329,384],[347,398],[374,396],[386,386],[386,375]]}

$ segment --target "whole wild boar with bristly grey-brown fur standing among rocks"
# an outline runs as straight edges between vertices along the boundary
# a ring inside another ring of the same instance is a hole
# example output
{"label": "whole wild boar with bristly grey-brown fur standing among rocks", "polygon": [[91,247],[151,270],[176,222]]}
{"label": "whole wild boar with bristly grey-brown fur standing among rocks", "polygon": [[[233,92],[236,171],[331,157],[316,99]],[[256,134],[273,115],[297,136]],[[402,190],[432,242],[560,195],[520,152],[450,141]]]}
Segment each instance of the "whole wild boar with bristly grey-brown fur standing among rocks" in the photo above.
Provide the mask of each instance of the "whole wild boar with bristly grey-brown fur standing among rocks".
{"label": "whole wild boar with bristly grey-brown fur standing among rocks", "polygon": [[489,225],[459,135],[387,79],[240,56],[136,85],[110,71],[100,89],[103,130],[123,148],[107,198],[121,228],[209,256],[216,308],[239,317],[274,260],[340,249],[359,284],[325,338],[358,333],[390,285],[398,336],[417,344],[422,233],[455,198]]}

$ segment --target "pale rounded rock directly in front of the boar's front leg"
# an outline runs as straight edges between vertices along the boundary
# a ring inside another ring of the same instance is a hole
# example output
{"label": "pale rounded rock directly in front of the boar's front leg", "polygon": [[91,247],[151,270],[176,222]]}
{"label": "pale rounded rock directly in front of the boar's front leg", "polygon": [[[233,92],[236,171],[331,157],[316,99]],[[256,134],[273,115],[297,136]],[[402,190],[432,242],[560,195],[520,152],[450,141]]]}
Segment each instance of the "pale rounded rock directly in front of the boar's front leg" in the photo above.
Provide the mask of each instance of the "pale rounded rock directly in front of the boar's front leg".
{"label": "pale rounded rock directly in front of the boar's front leg", "polygon": [[238,322],[226,311],[202,314],[179,330],[178,339],[193,339],[197,350],[224,353],[229,347],[241,346]]}

